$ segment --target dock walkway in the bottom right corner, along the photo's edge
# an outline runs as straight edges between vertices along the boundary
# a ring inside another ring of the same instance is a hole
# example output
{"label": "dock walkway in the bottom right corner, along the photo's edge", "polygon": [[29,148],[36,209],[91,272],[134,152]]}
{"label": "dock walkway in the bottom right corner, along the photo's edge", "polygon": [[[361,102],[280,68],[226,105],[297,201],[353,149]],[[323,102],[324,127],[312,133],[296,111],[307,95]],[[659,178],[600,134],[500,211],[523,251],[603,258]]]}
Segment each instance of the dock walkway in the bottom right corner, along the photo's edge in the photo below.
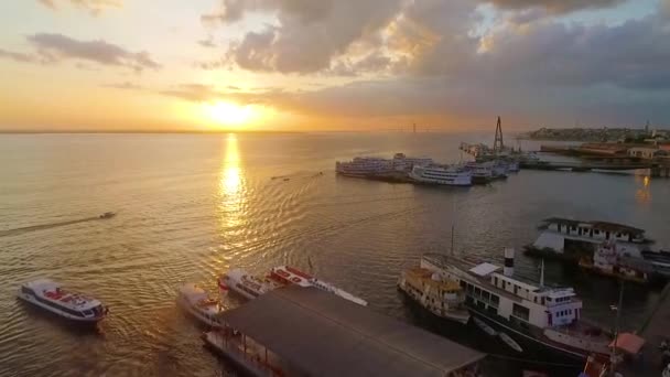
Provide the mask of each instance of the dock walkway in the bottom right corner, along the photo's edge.
{"label": "dock walkway in the bottom right corner, along the photo's edge", "polygon": [[645,338],[646,345],[641,359],[625,363],[619,367],[625,376],[659,377],[664,366],[661,365],[661,351],[659,345],[663,338],[670,338],[670,283],[661,291],[656,306],[650,311],[646,321],[638,331]]}

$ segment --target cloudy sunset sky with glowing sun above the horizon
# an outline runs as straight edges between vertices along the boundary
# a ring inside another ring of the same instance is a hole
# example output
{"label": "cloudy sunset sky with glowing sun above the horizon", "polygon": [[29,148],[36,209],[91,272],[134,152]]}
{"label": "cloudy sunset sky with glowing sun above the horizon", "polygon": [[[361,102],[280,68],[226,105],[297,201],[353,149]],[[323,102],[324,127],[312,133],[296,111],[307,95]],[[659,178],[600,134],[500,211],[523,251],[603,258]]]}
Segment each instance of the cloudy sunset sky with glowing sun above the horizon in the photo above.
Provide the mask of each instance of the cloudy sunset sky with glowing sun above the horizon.
{"label": "cloudy sunset sky with glowing sun above the horizon", "polygon": [[670,128],[670,0],[8,0],[0,131]]}

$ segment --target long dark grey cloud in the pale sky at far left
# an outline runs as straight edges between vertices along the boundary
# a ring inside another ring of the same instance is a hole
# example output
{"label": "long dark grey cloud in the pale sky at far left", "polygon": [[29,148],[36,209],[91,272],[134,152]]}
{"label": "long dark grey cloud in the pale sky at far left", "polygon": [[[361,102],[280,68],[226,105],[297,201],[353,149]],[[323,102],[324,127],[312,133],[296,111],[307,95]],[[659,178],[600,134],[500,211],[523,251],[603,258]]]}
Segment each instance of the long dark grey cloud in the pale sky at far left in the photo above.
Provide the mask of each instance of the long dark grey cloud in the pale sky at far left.
{"label": "long dark grey cloud in the pale sky at far left", "polygon": [[130,52],[116,44],[97,41],[78,41],[62,34],[39,33],[26,36],[43,61],[77,60],[101,65],[128,67],[136,72],[159,69],[161,65],[145,51]]}

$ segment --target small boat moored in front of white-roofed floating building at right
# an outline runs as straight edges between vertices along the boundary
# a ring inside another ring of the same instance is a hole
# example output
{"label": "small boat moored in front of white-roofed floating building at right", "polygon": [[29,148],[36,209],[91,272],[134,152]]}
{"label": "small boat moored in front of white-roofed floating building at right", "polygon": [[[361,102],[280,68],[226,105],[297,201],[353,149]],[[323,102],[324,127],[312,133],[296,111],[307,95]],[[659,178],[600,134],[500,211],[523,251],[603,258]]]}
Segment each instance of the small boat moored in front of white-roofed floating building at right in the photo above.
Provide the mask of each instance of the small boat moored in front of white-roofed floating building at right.
{"label": "small boat moored in front of white-roofed floating building at right", "polygon": [[593,258],[582,257],[580,267],[586,271],[594,272],[601,276],[615,278],[617,280],[626,280],[637,283],[649,282],[649,273],[651,266],[640,260],[637,266],[635,259],[626,261],[619,257],[616,251],[616,244],[613,241],[603,243],[593,254]]}

